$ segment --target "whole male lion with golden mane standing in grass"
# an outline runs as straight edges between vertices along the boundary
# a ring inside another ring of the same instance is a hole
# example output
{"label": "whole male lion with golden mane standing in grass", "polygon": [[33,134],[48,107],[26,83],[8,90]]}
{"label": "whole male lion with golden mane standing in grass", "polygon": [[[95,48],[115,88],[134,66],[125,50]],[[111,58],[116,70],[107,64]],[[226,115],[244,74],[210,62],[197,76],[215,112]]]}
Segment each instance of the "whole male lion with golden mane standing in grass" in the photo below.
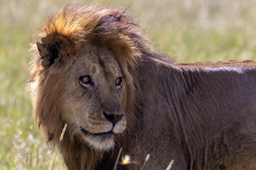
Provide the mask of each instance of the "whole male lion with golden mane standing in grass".
{"label": "whole male lion with golden mane standing in grass", "polygon": [[[173,64],[131,14],[68,5],[31,42],[34,120],[71,170],[256,169],[256,63]],[[67,130],[60,142],[64,124]]]}

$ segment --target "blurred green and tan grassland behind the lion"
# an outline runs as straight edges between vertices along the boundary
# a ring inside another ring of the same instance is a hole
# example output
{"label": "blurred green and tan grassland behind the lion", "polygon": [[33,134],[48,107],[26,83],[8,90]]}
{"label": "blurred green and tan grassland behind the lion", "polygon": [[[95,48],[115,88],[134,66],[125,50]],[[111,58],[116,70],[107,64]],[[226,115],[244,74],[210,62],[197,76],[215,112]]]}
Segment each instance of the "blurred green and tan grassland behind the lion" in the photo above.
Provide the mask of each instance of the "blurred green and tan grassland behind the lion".
{"label": "blurred green and tan grassland behind the lion", "polygon": [[[30,61],[28,39],[37,31],[45,14],[59,10],[69,2],[0,0],[1,170],[51,168],[55,153],[49,151],[41,133],[36,130],[26,92]],[[174,55],[178,62],[256,60],[255,0],[79,2],[114,8],[131,5],[129,11],[141,19],[141,25],[147,27],[147,34],[157,42],[156,46]],[[65,169],[60,155],[54,169]]]}

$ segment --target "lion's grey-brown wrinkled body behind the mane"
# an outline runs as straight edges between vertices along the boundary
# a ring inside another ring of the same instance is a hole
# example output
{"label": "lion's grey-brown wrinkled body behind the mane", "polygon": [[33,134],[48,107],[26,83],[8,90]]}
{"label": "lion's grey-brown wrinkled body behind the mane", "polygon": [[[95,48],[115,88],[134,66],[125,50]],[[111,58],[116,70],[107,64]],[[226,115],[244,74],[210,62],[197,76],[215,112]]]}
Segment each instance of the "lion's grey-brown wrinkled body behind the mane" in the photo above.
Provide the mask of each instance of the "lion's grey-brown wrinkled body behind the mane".
{"label": "lion's grey-brown wrinkled body behind the mane", "polygon": [[255,169],[256,63],[159,63],[147,57],[138,71],[141,124],[126,139],[131,159],[141,165],[150,154],[146,169],[172,159],[176,170]]}

